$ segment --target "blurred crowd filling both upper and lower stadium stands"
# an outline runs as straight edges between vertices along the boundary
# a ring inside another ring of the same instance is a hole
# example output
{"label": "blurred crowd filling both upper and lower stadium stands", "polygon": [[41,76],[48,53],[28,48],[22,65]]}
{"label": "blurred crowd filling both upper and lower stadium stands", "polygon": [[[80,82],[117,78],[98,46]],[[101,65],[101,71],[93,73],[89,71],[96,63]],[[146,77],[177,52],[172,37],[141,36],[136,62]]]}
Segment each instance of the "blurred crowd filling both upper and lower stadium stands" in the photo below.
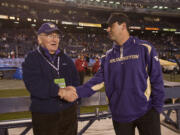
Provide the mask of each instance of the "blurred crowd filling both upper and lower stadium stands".
{"label": "blurred crowd filling both upper and lower stadium stands", "polygon": [[[76,25],[81,22],[104,24],[113,11],[53,4],[42,5],[41,3],[15,2],[13,0],[1,1],[0,11],[1,14],[14,16],[16,19],[19,18],[20,22],[26,22],[24,26],[21,26],[22,24],[14,24],[13,21],[0,21],[0,57],[24,57],[30,50],[35,49],[37,47],[36,29],[38,26],[33,27],[31,24],[33,22],[37,25],[48,20],[58,21],[59,24],[65,21],[74,25],[61,25],[63,30],[60,47],[72,58],[77,58],[79,53],[87,53],[90,58],[101,57],[112,47],[112,42],[108,39],[103,28],[100,30],[100,28],[86,27],[83,28],[84,30],[77,30]],[[127,14],[133,20],[130,26],[141,27],[141,30],[134,30],[131,34],[152,43],[157,48],[160,57],[169,57],[179,49],[179,35],[175,35],[174,32],[143,31],[146,27],[180,29],[178,17],[131,12]],[[31,20],[30,23],[27,22],[28,18]]]}

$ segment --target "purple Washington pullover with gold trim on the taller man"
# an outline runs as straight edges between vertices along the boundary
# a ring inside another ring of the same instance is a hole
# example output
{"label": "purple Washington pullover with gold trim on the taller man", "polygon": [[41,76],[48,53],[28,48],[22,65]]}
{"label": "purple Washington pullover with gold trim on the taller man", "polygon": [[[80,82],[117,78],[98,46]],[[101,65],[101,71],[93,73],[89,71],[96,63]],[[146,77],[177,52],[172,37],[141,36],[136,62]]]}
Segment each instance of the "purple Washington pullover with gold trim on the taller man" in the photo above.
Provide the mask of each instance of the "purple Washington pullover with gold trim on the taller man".
{"label": "purple Washington pullover with gold trim on the taller man", "polygon": [[115,44],[102,58],[95,76],[77,87],[78,96],[90,96],[104,85],[115,121],[131,122],[151,108],[162,110],[161,66],[155,48],[147,41],[130,37],[122,47]]}

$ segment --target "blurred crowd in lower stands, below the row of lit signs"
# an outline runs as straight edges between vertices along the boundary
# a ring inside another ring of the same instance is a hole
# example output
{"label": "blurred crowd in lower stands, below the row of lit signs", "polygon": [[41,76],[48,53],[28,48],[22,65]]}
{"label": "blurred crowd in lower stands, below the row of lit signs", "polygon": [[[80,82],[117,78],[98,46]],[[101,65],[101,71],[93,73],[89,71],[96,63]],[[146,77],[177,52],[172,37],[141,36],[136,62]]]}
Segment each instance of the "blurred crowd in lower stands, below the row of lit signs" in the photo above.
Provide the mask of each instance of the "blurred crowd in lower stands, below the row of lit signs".
{"label": "blurred crowd in lower stands, below the row of lit signs", "polygon": [[[168,59],[173,53],[179,53],[179,35],[166,33],[131,33],[152,43],[161,58]],[[72,58],[78,54],[87,54],[90,58],[101,57],[112,47],[106,32],[62,32],[60,48]],[[29,51],[37,47],[34,29],[2,29],[0,32],[0,57],[23,58]]]}

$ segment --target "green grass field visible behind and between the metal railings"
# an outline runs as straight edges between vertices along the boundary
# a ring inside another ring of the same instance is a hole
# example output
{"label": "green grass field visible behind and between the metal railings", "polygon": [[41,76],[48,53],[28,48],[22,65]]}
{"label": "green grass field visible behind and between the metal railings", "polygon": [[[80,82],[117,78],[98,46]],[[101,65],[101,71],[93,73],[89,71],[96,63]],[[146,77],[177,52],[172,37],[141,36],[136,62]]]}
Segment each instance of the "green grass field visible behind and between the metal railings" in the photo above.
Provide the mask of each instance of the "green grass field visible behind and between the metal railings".
{"label": "green grass field visible behind and between the metal railings", "polygon": [[[167,81],[176,81],[180,82],[180,75],[170,75],[170,74],[163,74],[164,80]],[[90,79],[90,77],[86,78],[86,81]],[[104,91],[102,89],[101,91]],[[13,89],[13,90],[0,90],[0,98],[2,97],[16,97],[16,96],[29,96],[29,93],[26,89]],[[81,107],[80,113],[90,113],[95,112],[96,108],[99,108],[99,111],[104,111],[108,109],[108,106],[91,106],[91,107]],[[18,119],[18,118],[30,118],[30,112],[19,112],[19,113],[7,113],[7,114],[0,114],[0,121],[8,120],[8,119]]]}

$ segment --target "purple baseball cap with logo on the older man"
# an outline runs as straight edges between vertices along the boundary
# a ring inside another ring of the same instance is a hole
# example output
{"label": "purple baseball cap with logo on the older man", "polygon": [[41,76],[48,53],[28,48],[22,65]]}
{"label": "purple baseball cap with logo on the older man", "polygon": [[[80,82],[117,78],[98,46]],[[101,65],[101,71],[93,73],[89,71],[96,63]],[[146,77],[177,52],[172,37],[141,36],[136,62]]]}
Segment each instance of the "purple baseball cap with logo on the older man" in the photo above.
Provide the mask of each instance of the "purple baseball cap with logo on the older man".
{"label": "purple baseball cap with logo on the older man", "polygon": [[48,22],[48,23],[43,23],[41,25],[41,27],[38,29],[37,34],[38,35],[41,34],[41,33],[50,34],[52,32],[60,33],[60,30],[54,23]]}

